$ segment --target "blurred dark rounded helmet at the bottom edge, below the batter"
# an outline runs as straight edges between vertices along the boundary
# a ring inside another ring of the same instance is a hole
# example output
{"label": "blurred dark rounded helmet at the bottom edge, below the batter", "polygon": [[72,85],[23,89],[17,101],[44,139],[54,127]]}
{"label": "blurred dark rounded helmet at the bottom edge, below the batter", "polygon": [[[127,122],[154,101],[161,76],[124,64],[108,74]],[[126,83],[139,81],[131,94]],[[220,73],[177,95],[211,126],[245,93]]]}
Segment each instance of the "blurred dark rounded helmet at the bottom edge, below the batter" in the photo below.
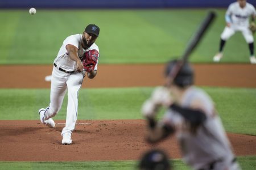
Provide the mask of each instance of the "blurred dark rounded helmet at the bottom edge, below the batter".
{"label": "blurred dark rounded helmet at the bottom edge, below the batter", "polygon": [[171,164],[163,151],[150,150],[142,156],[138,168],[141,170],[171,170]]}

